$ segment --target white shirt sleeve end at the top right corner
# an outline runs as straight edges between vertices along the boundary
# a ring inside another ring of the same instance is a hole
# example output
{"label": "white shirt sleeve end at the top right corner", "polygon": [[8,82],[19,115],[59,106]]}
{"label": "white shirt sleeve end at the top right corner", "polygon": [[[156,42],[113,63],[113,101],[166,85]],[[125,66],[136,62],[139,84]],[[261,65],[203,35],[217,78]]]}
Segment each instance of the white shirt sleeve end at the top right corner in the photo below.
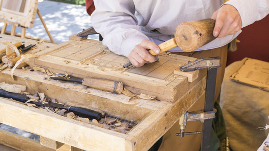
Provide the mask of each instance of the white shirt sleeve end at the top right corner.
{"label": "white shirt sleeve end at the top right corner", "polygon": [[237,9],[242,19],[242,28],[269,14],[269,0],[230,0],[225,4]]}

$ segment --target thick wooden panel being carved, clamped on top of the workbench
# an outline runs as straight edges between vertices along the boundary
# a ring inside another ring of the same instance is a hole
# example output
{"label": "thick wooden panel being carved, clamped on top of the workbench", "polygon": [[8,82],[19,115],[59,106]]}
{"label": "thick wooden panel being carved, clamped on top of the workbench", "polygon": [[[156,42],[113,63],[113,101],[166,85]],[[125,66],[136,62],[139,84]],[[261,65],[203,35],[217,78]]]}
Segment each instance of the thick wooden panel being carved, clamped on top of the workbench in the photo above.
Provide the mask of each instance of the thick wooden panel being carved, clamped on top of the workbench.
{"label": "thick wooden panel being carved, clamped on top of the workbench", "polygon": [[[154,63],[123,68],[123,64],[129,61],[128,58],[114,54],[99,41],[88,39],[69,40],[37,55],[40,57],[30,60],[31,67],[36,65],[52,72],[67,72],[79,78],[120,81],[133,93],[144,93],[156,96],[158,100],[171,102],[181,97],[175,90],[184,89],[187,81],[175,81],[177,78],[174,77],[174,70],[179,68],[179,64],[196,59],[165,53],[159,55],[160,60]],[[169,85],[171,82],[178,82],[178,85]]]}

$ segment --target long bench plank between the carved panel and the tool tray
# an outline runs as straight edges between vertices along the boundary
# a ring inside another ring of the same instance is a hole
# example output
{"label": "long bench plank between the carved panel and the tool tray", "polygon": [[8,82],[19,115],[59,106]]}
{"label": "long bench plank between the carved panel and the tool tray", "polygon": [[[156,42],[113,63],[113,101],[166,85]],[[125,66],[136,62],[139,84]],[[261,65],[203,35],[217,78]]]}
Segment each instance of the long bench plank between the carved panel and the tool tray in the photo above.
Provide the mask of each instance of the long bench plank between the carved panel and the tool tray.
{"label": "long bench plank between the carved panel and the tool tray", "polygon": [[[106,113],[121,118],[139,122],[154,110],[158,110],[165,102],[163,101],[145,101],[136,99],[131,101],[138,103],[129,105],[130,97],[123,94],[106,94],[106,92],[87,88],[81,84],[60,83],[55,80],[45,80],[44,74],[40,72],[32,72],[30,69],[15,70],[15,81],[12,80],[9,70],[0,72],[0,82],[7,84],[20,84],[27,87],[27,92],[35,94],[35,90],[44,93],[50,98],[54,98],[59,102],[67,104],[75,102],[83,104],[84,107],[90,106],[100,109]],[[123,114],[124,113],[124,114]]]}

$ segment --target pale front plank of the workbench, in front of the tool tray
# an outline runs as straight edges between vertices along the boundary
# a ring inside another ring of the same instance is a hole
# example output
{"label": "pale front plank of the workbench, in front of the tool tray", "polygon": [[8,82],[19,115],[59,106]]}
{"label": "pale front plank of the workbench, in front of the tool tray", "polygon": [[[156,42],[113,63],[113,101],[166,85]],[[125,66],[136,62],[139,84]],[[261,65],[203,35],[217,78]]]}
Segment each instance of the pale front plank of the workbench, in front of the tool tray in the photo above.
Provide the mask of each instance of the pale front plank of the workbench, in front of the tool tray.
{"label": "pale front plank of the workbench, in front of the tool tray", "polygon": [[5,98],[0,98],[0,122],[85,150],[124,150],[127,136]]}

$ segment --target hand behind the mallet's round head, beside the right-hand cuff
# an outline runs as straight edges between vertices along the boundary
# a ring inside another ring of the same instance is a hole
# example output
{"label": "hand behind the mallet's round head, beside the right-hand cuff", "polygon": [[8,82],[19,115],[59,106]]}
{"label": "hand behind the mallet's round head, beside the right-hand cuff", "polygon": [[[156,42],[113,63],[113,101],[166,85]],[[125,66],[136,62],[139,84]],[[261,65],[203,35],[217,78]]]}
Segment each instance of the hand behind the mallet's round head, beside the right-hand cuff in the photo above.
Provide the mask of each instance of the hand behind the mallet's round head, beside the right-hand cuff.
{"label": "hand behind the mallet's round head, beside the right-hand cuff", "polygon": [[211,19],[216,20],[213,30],[213,36],[226,37],[238,32],[242,28],[241,17],[231,5],[223,5],[219,10],[213,13]]}

